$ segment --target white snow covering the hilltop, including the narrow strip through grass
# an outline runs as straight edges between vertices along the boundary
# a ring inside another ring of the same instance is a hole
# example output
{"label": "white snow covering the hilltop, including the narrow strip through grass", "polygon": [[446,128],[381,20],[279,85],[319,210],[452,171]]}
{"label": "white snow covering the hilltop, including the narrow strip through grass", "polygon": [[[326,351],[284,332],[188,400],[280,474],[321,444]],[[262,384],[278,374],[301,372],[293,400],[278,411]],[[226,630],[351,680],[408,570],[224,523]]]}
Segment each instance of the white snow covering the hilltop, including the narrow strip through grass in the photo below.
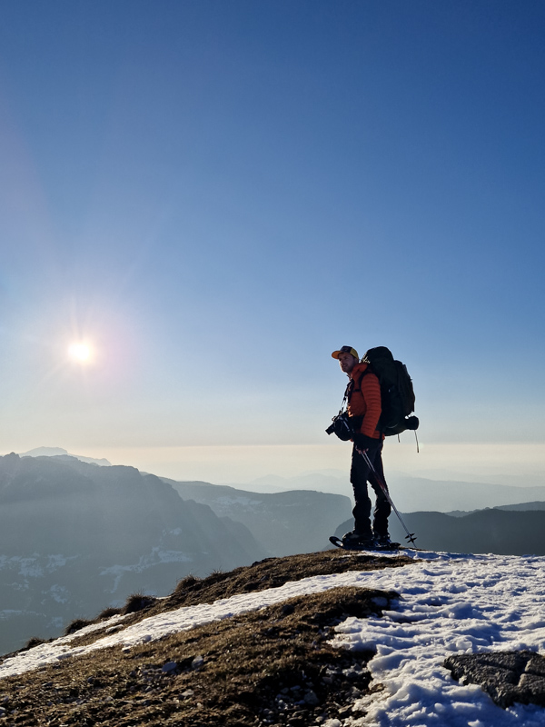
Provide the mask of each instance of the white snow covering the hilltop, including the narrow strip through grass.
{"label": "white snow covering the hilltop, including the narrow strip through grass", "polygon": [[[127,628],[117,619],[113,627],[119,630],[102,633],[97,641],[74,646],[74,638],[68,638],[17,654],[0,665],[0,677],[21,674],[50,662],[66,663],[112,646],[121,646],[130,653],[139,645],[148,644],[146,653],[151,658],[154,642],[168,634],[234,619],[294,596],[310,597],[356,586],[396,591],[401,596],[381,616],[346,618],[332,633],[332,642],[339,649],[376,651],[369,662],[371,686],[381,684],[383,688],[368,690],[354,699],[352,710],[343,712],[342,719],[323,717],[299,723],[322,723],[325,727],[545,724],[545,709],[515,704],[503,710],[478,685],[455,682],[443,666],[445,658],[453,653],[545,651],[545,558],[407,554],[411,563],[401,567],[314,575],[278,588],[159,613]],[[339,555],[339,562],[352,557]],[[205,656],[200,664],[203,662]],[[273,722],[265,719],[257,723]]]}

